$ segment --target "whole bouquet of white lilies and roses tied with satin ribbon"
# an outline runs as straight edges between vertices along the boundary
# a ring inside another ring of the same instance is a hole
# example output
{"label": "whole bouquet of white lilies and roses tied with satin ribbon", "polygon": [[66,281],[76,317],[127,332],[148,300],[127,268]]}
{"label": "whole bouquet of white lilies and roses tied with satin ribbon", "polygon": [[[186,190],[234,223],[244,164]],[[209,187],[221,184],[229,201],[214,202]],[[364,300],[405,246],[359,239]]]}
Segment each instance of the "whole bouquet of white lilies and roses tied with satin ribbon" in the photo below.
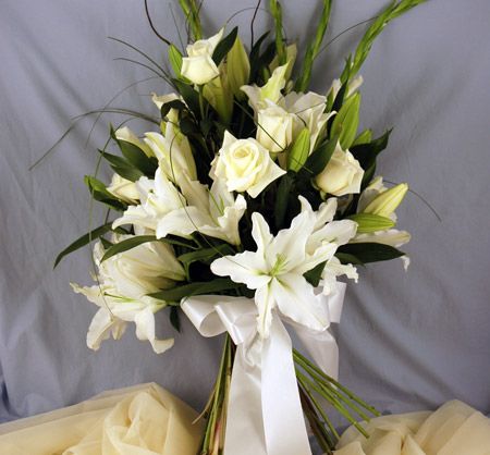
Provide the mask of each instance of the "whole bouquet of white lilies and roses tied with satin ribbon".
{"label": "whole bouquet of white lilies and roses tied with satin ribbon", "polygon": [[87,334],[93,349],[133,322],[139,340],[166,352],[174,340],[157,336],[158,311],[177,331],[185,315],[204,336],[225,333],[201,416],[201,454],[309,454],[308,433],[331,453],[339,439],[332,409],[360,432],[357,420],[377,414],[338,382],[329,329],[340,322],[339,278],[357,281],[368,262],[402,258],[408,266],[399,248],[409,234],[395,228],[408,186],[387,187],[376,173],[390,131],[358,131],[358,72],[383,27],[421,1],[393,1],[373,19],[324,94],[308,85],[331,0],[301,64],[277,0],[269,3],[272,33],[253,36],[248,49],[237,27],[204,38],[195,0],[179,1],[185,49],[148,14],[171,71],[126,44],[173,93],[152,95],[158,119],[117,110],[154,122],[155,131],[142,136],[126,121],[110,126],[97,169],[108,164],[112,180],[85,176],[90,197],[107,206],[106,222],[57,263],[95,242],[95,285],[72,284],[99,307]]}

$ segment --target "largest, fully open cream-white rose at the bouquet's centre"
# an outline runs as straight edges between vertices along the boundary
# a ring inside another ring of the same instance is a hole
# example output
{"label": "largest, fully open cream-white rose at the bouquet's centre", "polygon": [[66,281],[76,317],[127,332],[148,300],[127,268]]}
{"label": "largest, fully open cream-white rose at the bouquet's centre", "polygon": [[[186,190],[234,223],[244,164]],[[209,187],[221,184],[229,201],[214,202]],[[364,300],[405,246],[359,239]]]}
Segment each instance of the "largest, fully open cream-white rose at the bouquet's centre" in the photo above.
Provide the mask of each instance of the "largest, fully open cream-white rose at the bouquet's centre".
{"label": "largest, fully open cream-white rose at the bouquet's centre", "polygon": [[222,179],[229,192],[247,192],[257,197],[272,181],[285,174],[260,143],[236,139],[224,133],[223,146],[215,158],[211,177]]}

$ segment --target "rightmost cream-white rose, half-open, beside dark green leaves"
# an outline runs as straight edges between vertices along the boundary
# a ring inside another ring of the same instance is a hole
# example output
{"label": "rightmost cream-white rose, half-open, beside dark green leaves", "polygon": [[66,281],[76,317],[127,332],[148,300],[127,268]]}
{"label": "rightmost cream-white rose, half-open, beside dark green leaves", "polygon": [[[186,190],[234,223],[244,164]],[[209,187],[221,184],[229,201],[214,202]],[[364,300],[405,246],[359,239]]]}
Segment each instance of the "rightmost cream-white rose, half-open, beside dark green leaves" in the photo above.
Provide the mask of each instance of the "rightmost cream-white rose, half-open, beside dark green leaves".
{"label": "rightmost cream-white rose, half-open, beside dark green leaves", "polygon": [[343,196],[359,193],[364,170],[348,150],[342,150],[340,144],[327,167],[315,179],[315,183],[324,193]]}

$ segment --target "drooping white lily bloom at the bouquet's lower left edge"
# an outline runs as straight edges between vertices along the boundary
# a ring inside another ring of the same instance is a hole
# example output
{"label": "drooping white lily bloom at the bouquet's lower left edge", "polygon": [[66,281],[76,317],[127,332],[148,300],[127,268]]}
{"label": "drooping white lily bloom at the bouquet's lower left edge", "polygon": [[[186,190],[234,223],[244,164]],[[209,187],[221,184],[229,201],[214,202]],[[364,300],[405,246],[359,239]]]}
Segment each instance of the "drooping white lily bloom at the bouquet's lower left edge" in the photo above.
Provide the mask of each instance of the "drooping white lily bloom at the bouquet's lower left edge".
{"label": "drooping white lily bloom at the bouquet's lower left edge", "polygon": [[[114,236],[122,241],[128,236]],[[76,293],[99,307],[87,333],[87,345],[97,351],[110,334],[122,336],[128,322],[136,324],[138,340],[149,341],[156,353],[173,345],[173,339],[159,340],[155,334],[155,312],[166,306],[146,294],[172,287],[185,278],[172,248],[163,243],[147,243],[115,255],[101,262],[105,249],[100,242],[94,247],[98,267],[98,284],[79,286],[72,283]]]}

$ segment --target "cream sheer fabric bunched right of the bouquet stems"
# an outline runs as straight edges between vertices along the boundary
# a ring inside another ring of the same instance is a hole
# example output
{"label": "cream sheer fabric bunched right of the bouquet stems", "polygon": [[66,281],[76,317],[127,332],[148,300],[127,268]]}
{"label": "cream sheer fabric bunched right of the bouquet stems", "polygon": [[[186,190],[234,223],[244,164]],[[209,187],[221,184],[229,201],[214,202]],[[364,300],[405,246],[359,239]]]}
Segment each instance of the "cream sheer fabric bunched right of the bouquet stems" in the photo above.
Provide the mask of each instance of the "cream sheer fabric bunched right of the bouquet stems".
{"label": "cream sheer fabric bunched right of the bouquet stems", "polygon": [[335,455],[490,455],[490,419],[453,401],[434,413],[372,419],[366,440],[350,428]]}

